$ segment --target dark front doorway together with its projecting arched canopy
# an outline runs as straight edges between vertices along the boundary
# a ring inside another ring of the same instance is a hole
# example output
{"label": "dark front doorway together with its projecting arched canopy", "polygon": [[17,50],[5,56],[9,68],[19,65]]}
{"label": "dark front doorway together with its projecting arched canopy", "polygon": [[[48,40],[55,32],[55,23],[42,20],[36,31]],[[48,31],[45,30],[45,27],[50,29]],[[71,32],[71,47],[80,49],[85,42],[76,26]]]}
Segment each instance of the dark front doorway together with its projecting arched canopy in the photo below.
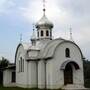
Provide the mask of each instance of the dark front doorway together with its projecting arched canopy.
{"label": "dark front doorway together with its projecting arched canopy", "polygon": [[75,70],[80,69],[79,65],[72,60],[67,60],[62,63],[61,70],[64,72],[64,85],[66,84],[73,84],[73,67]]}

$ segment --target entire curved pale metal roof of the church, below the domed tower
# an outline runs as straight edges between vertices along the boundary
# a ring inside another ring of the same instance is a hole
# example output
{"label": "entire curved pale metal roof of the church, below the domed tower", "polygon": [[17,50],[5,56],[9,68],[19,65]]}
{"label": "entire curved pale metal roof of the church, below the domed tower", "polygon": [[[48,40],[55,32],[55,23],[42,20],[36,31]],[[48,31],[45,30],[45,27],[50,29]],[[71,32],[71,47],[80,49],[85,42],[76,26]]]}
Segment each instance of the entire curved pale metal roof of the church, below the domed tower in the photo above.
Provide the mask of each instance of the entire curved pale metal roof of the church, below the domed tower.
{"label": "entire curved pale metal roof of the church, below the domed tower", "polygon": [[[17,47],[17,50],[16,50],[15,60],[16,60],[18,48],[20,46],[22,46],[25,50],[26,59],[28,59],[28,60],[29,59],[40,60],[40,59],[53,58],[56,48],[59,45],[61,45],[63,43],[67,43],[67,42],[71,43],[71,44],[74,44],[79,49],[79,51],[81,53],[81,56],[83,58],[83,54],[82,54],[80,48],[78,47],[78,45],[76,45],[72,41],[65,40],[65,39],[62,39],[62,38],[57,38],[57,39],[54,39],[54,40],[39,40],[39,41],[36,42],[35,46],[30,45],[30,43],[19,44],[18,47]],[[33,54],[33,51],[35,52],[35,55]],[[29,54],[27,54],[29,52],[30,52],[30,56],[29,56]]]}

